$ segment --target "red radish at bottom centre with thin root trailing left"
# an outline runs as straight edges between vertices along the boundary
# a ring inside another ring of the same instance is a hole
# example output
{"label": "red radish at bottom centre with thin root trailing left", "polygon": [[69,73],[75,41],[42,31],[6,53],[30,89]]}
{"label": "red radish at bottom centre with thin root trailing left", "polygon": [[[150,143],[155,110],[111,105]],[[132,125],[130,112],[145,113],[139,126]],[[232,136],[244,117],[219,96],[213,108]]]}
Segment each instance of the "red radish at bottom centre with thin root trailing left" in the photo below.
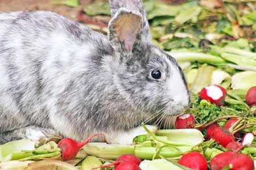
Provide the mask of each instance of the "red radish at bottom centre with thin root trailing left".
{"label": "red radish at bottom centre with thin root trailing left", "polygon": [[113,162],[113,163],[101,165],[99,167],[94,167],[92,169],[100,169],[100,168],[105,168],[105,167],[111,167],[113,165],[115,166],[115,168],[117,168],[119,166],[119,164],[124,163],[124,162],[129,162],[129,163],[139,165],[141,163],[141,159],[139,159],[137,156],[134,156],[132,154],[125,154],[125,155],[119,156],[117,158],[117,160],[115,160],[115,162]]}

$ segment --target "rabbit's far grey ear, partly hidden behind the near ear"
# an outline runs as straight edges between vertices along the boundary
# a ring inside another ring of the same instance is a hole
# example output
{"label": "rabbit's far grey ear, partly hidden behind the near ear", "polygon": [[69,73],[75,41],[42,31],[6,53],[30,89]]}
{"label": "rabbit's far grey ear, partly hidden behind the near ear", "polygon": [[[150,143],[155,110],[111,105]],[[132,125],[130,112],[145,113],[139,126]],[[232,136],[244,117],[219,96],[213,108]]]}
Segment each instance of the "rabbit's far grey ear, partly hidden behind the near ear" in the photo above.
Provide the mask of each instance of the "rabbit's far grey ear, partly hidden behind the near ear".
{"label": "rabbit's far grey ear, partly hidden behind the near ear", "polygon": [[119,8],[126,8],[130,11],[137,11],[142,16],[142,34],[141,39],[143,42],[150,41],[151,35],[149,30],[149,25],[146,18],[146,11],[143,7],[142,0],[109,0],[111,15],[114,18],[115,14],[119,10]]}

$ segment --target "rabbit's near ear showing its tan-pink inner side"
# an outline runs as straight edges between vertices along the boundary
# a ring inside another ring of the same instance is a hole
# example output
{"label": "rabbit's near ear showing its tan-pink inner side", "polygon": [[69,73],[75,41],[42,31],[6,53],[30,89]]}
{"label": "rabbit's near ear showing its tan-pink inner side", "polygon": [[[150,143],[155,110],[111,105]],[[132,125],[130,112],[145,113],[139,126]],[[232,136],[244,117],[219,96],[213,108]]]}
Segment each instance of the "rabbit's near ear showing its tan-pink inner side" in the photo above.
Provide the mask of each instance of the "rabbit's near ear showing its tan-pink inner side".
{"label": "rabbit's near ear showing its tan-pink inner side", "polygon": [[108,38],[110,44],[119,52],[131,52],[141,45],[142,17],[137,11],[119,8],[109,22]]}

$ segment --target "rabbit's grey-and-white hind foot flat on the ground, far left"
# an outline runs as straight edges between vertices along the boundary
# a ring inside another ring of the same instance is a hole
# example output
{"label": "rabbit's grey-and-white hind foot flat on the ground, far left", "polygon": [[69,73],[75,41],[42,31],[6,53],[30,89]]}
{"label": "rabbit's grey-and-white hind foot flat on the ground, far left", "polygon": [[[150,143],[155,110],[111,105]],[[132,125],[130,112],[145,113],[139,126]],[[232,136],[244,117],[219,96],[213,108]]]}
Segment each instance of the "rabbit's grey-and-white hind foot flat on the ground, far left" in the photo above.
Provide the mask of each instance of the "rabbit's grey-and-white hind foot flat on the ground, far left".
{"label": "rabbit's grey-and-white hind foot flat on the ground, far left", "polygon": [[40,128],[36,126],[27,126],[24,128],[0,133],[0,145],[18,139],[31,139],[32,141],[39,141],[39,139],[53,136],[59,135],[52,129]]}

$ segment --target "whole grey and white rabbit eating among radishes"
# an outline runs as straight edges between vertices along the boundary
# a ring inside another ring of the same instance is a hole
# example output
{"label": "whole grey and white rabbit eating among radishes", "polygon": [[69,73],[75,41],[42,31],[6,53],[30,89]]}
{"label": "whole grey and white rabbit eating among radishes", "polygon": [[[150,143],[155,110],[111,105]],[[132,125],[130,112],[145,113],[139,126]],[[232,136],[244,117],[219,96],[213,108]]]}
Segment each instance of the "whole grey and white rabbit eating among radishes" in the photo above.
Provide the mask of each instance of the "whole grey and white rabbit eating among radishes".
{"label": "whole grey and white rabbit eating among radishes", "polygon": [[0,143],[102,132],[129,144],[142,122],[188,106],[184,75],[152,43],[142,1],[110,7],[108,36],[53,12],[0,13]]}

